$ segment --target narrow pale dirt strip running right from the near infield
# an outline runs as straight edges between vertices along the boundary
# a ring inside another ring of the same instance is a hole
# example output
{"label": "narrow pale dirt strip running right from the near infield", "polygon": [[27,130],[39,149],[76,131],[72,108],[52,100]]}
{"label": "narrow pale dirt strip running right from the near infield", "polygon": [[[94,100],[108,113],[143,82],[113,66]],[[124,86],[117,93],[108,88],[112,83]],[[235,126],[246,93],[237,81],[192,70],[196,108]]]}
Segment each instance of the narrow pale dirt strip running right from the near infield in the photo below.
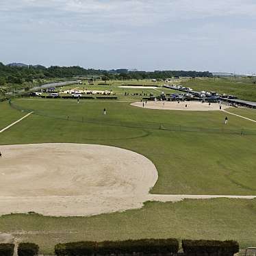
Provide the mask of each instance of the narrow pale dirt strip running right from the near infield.
{"label": "narrow pale dirt strip running right from the near infield", "polygon": [[178,202],[184,199],[255,199],[256,196],[209,195],[209,194],[149,194],[148,201]]}

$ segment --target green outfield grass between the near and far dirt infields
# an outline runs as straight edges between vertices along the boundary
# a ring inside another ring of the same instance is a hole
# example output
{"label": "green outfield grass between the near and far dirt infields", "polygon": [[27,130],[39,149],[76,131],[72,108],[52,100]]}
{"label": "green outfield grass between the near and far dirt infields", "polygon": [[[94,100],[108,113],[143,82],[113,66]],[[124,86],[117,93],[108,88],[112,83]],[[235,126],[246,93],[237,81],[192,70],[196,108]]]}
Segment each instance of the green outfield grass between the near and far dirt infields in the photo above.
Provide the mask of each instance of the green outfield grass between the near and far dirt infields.
{"label": "green outfield grass between the near and far dirt infields", "polygon": [[[119,146],[155,164],[159,179],[152,193],[256,194],[256,149],[252,146],[256,136],[232,133],[242,127],[255,129],[251,121],[229,115],[229,125],[225,126],[224,112],[149,110],[114,101],[77,104],[18,99],[15,103],[43,116],[34,114],[5,131],[1,144],[73,142]],[[77,121],[66,120],[66,116]],[[190,127],[191,131],[193,127],[218,128],[223,133],[166,131],[158,129],[160,123],[166,127],[180,125],[181,130]],[[133,128],[134,124],[141,128]]]}

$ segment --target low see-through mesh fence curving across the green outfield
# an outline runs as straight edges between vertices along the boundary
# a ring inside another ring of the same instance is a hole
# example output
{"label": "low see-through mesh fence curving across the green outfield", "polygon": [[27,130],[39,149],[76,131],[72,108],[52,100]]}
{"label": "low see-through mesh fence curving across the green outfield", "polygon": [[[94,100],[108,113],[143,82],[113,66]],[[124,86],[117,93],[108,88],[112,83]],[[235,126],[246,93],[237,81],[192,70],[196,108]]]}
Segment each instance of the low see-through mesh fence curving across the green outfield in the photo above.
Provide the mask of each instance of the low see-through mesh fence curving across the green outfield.
{"label": "low see-through mesh fence curving across the green outfield", "polygon": [[116,127],[128,127],[128,128],[138,128],[138,129],[157,129],[162,131],[180,131],[180,132],[196,132],[196,133],[221,133],[221,134],[236,134],[240,136],[255,136],[256,129],[240,128],[240,129],[229,129],[227,127],[223,128],[210,128],[210,127],[188,127],[184,125],[179,125],[175,123],[154,123],[154,122],[140,122],[137,120],[116,120],[116,119],[97,119],[97,118],[88,118],[84,116],[71,116],[71,115],[61,115],[43,112],[41,110],[31,110],[25,109],[15,103],[12,103],[9,100],[9,104],[15,110],[20,110],[23,112],[34,112],[38,116],[47,116],[56,119],[68,120],[73,122],[80,123],[91,123],[97,125],[107,125],[107,126],[116,126]]}

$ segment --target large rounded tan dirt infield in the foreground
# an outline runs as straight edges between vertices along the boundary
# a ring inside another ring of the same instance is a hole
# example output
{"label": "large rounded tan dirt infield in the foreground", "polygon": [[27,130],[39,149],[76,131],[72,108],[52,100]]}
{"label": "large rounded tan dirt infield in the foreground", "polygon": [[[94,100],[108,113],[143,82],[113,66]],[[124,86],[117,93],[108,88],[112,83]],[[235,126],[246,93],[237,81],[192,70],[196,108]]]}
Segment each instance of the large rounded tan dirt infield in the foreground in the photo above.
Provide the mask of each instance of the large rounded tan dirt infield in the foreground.
{"label": "large rounded tan dirt infield in the foreground", "polygon": [[142,207],[157,181],[146,157],[112,146],[0,146],[0,214],[88,216]]}

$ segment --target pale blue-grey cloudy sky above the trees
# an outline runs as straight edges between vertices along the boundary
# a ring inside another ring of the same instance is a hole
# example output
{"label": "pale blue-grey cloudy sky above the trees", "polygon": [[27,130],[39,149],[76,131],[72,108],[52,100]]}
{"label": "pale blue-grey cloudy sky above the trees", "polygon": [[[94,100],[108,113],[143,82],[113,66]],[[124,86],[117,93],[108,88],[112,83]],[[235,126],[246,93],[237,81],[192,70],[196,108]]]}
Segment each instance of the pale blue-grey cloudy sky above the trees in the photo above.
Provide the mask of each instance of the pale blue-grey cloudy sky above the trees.
{"label": "pale blue-grey cloudy sky above the trees", "polygon": [[256,73],[256,0],[0,0],[0,62]]}

